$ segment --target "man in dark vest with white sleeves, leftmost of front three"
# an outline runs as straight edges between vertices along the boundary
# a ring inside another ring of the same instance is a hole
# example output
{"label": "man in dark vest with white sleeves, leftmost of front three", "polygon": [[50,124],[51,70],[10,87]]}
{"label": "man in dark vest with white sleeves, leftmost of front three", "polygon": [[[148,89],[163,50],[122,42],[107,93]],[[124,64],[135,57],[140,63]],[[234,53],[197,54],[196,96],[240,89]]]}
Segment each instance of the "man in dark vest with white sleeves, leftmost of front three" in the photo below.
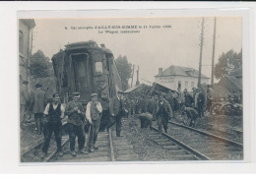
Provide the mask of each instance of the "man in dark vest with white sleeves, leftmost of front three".
{"label": "man in dark vest with white sleeves, leftmost of front three", "polygon": [[58,93],[54,93],[52,95],[53,102],[50,102],[46,105],[45,110],[43,112],[44,119],[44,145],[42,148],[42,158],[47,155],[47,150],[49,148],[51,135],[54,132],[55,141],[57,144],[57,151],[59,156],[63,155],[61,149],[61,128],[62,123],[61,120],[64,118],[65,108],[60,103],[60,97]]}

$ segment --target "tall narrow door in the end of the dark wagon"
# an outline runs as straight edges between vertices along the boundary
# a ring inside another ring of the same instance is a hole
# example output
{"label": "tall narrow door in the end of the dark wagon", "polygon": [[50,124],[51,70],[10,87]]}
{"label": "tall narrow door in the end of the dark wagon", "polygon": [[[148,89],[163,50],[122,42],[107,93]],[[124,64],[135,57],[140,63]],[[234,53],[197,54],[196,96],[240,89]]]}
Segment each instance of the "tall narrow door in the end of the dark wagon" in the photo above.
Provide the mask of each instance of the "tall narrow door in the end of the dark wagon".
{"label": "tall narrow door in the end of the dark wagon", "polygon": [[81,101],[89,101],[92,93],[92,72],[88,54],[72,55],[74,63],[75,87],[80,92]]}

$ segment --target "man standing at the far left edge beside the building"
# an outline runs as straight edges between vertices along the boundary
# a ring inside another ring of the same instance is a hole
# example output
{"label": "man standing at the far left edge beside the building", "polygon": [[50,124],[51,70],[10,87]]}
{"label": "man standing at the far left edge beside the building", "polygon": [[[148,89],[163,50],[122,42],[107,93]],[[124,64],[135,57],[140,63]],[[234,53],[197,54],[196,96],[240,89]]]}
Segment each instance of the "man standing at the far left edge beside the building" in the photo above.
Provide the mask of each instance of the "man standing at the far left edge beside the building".
{"label": "man standing at the far left edge beside the building", "polygon": [[20,117],[22,122],[26,121],[30,105],[30,93],[28,90],[28,84],[28,81],[24,81],[20,90]]}

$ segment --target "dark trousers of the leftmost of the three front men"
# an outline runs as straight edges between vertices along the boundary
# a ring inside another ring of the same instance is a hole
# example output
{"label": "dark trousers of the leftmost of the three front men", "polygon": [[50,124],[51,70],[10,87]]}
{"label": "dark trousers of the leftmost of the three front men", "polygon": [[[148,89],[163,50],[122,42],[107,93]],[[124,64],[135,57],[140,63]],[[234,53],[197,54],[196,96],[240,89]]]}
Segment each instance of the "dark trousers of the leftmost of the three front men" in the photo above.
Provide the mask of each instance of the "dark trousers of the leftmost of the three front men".
{"label": "dark trousers of the leftmost of the three front men", "polygon": [[47,122],[44,126],[44,139],[42,152],[47,152],[50,144],[52,133],[54,132],[55,141],[57,144],[57,150],[61,150],[61,122]]}

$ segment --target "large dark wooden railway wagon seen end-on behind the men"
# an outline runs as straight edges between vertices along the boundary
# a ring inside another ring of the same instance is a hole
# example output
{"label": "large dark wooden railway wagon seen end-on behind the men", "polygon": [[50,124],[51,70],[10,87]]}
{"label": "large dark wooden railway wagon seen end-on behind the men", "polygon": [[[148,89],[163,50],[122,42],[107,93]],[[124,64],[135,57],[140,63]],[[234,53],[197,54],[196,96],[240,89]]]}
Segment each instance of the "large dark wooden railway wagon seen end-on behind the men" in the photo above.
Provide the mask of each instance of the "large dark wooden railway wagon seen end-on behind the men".
{"label": "large dark wooden railway wagon seen end-on behind the men", "polygon": [[108,109],[110,98],[121,90],[112,52],[95,41],[70,43],[52,57],[56,90],[62,102],[68,102],[74,91],[79,91],[81,101],[86,105],[91,93],[96,92],[103,110]]}

